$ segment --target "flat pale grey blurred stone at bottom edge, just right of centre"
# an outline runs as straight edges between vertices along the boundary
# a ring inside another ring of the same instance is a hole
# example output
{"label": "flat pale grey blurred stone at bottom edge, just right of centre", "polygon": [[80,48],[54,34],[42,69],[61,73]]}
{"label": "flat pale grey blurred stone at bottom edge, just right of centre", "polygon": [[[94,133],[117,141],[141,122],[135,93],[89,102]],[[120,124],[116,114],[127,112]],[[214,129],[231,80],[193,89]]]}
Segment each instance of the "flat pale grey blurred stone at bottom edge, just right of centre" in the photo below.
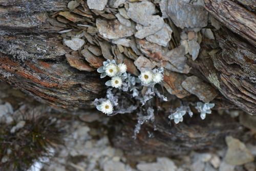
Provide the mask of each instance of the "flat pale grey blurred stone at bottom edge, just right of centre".
{"label": "flat pale grey blurred stone at bottom edge, just right of centre", "polygon": [[137,164],[137,168],[140,171],[175,171],[177,169],[175,163],[165,157],[157,158],[157,162],[155,163],[139,163]]}

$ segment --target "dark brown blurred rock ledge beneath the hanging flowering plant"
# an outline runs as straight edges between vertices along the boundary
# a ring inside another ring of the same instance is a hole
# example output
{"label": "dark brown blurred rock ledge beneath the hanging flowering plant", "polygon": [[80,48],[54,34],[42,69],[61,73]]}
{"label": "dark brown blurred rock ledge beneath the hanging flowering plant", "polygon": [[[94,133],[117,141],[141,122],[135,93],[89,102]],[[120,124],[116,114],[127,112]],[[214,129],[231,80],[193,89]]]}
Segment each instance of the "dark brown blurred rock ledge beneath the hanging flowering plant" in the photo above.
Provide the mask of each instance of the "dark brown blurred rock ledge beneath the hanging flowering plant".
{"label": "dark brown blurred rock ledge beneath the hanging flowering plant", "polygon": [[[168,115],[158,114],[155,122],[141,126],[133,139],[136,121],[132,116],[113,118],[111,142],[128,155],[182,156],[191,151],[214,151],[224,147],[224,137],[242,138],[244,128],[229,116],[211,114],[202,122],[199,116],[172,124]],[[228,120],[228,123],[226,122]]]}

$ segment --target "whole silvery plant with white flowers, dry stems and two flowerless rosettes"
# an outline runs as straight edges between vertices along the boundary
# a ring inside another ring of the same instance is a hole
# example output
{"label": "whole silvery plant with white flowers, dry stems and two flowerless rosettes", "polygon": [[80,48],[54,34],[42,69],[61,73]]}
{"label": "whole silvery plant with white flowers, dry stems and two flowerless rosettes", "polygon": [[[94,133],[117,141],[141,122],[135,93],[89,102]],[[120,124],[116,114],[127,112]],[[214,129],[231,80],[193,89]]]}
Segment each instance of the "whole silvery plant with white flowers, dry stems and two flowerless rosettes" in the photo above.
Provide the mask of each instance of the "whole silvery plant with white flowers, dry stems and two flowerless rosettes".
{"label": "whole silvery plant with white flowers, dry stems and two flowerless rosettes", "polygon": [[[160,93],[159,86],[156,86],[156,84],[161,84],[164,70],[163,68],[147,70],[141,72],[138,77],[135,77],[126,73],[126,69],[127,67],[124,63],[117,65],[115,60],[103,62],[103,66],[97,71],[101,73],[101,78],[106,76],[111,78],[105,82],[105,85],[110,88],[106,91],[105,98],[94,100],[94,105],[97,110],[109,116],[136,111],[137,124],[133,136],[136,138],[142,124],[155,121],[152,99],[157,97],[162,101],[167,101],[167,98]],[[214,103],[198,102],[196,109],[200,113],[201,118],[205,119],[206,114],[210,114],[210,109],[213,107]],[[186,113],[190,117],[193,116],[189,105],[180,105],[179,108],[175,109],[175,112],[172,111],[168,118],[174,120],[177,124],[183,121],[183,116]]]}

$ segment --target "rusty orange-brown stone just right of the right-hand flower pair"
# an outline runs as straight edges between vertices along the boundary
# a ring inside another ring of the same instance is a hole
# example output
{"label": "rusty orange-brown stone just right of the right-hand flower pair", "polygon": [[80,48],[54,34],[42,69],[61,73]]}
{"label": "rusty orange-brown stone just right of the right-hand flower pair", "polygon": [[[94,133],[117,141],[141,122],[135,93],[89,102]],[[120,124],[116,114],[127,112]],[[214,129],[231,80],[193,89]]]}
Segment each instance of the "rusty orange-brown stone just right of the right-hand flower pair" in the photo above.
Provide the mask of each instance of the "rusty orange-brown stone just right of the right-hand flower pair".
{"label": "rusty orange-brown stone just right of the right-hand flower pair", "polygon": [[183,98],[190,95],[185,89],[182,88],[181,83],[186,79],[183,74],[164,71],[164,87],[170,94],[176,95],[178,98]]}

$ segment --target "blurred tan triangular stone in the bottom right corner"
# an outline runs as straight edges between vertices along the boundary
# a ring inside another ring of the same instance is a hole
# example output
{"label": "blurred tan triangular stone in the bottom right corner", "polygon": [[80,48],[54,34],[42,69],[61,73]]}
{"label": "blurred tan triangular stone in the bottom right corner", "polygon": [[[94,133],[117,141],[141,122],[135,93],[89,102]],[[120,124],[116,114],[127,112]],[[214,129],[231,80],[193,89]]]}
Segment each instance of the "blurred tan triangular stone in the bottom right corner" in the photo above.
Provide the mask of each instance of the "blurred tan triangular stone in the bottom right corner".
{"label": "blurred tan triangular stone in the bottom right corner", "polygon": [[231,136],[226,137],[228,146],[225,156],[225,162],[231,165],[242,165],[254,160],[251,152],[246,148],[245,144],[239,139]]}

